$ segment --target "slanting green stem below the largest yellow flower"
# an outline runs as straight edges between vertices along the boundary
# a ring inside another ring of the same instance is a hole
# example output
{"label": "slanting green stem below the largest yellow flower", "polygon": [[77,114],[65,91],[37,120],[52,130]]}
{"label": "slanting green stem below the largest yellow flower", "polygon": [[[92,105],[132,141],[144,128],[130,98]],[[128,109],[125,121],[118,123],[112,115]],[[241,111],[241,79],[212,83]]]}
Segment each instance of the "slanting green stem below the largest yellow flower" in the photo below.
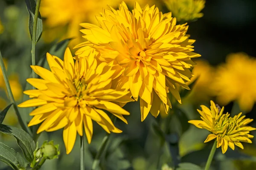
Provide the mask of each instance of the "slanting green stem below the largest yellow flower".
{"label": "slanting green stem below the largest yellow flower", "polygon": [[[116,120],[116,116],[112,115],[111,116],[111,120],[114,123],[115,120]],[[103,140],[102,140],[102,143],[101,143],[101,145],[99,147],[99,151],[97,152],[97,154],[95,156],[95,159],[93,160],[92,170],[96,170],[97,167],[99,166],[100,158],[102,157],[102,154],[104,153],[104,150],[105,150],[105,148],[107,146],[107,143],[108,143],[108,140],[109,140],[109,135],[110,135],[110,133],[107,133],[105,135],[105,137],[103,138]]]}

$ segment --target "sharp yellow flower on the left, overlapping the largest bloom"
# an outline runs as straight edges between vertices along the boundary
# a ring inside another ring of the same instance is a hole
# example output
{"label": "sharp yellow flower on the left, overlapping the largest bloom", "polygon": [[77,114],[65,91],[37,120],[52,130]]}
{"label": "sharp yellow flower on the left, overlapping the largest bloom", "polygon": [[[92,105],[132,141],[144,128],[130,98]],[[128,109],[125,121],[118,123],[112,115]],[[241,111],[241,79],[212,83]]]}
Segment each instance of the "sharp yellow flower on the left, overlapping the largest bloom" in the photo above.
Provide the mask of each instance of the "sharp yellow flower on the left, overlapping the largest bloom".
{"label": "sharp yellow flower on the left, overlapping the largest bloom", "polygon": [[74,63],[70,49],[64,54],[64,61],[47,53],[51,71],[39,66],[31,66],[42,79],[27,79],[36,90],[24,91],[30,99],[19,107],[36,107],[30,113],[34,116],[28,126],[41,122],[37,133],[55,131],[64,128],[63,139],[67,154],[76,141],[76,132],[83,136],[83,126],[88,143],[93,135],[93,123],[96,121],[108,133],[121,133],[113,125],[109,116],[102,109],[127,123],[122,115],[127,111],[113,102],[131,102],[128,92],[111,89],[111,78],[114,71],[106,63],[97,65],[94,54],[80,58]]}

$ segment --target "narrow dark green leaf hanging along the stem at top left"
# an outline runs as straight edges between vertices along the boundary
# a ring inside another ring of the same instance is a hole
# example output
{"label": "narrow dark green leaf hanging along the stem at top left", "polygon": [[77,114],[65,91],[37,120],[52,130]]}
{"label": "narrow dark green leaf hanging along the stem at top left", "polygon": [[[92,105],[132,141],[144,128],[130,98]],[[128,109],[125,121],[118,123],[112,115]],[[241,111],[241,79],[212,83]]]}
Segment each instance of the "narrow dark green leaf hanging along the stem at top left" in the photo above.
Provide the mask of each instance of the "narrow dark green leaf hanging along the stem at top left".
{"label": "narrow dark green leaf hanging along the stem at top left", "polygon": [[[35,3],[35,0],[25,0],[25,2],[26,2],[27,10],[29,12],[29,33],[30,33],[30,37],[32,40],[36,3]],[[36,42],[38,42],[38,40],[40,39],[40,37],[42,35],[42,31],[43,31],[43,22],[42,22],[41,14],[39,12],[38,22],[37,22],[37,27],[36,27],[36,36],[35,36]]]}

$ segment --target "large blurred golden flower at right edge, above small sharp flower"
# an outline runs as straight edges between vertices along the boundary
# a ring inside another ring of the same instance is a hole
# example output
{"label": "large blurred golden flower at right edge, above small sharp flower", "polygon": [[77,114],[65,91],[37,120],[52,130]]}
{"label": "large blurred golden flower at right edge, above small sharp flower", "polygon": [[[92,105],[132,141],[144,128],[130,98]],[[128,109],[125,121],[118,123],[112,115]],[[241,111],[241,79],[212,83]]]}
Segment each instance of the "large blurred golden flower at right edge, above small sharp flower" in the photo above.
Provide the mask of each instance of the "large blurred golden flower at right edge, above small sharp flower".
{"label": "large blurred golden flower at right edge, above small sharp flower", "polygon": [[215,83],[217,101],[227,105],[236,100],[242,111],[250,111],[256,102],[256,59],[244,53],[229,54],[218,67]]}

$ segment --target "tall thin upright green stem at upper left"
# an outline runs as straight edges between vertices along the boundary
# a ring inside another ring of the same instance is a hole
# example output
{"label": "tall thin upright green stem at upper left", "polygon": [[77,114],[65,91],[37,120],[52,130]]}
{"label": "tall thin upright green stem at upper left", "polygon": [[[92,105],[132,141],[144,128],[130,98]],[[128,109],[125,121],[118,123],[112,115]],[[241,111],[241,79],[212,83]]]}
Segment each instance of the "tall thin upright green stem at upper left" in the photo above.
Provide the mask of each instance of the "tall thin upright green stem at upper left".
{"label": "tall thin upright green stem at upper left", "polygon": [[[36,44],[36,28],[37,28],[37,21],[38,21],[38,14],[39,14],[39,7],[41,4],[41,0],[37,0],[36,7],[35,7],[35,18],[33,23],[33,35],[32,35],[32,65],[35,65],[35,44]],[[32,70],[32,78],[35,78],[35,72]],[[35,89],[35,87],[33,87]]]}

